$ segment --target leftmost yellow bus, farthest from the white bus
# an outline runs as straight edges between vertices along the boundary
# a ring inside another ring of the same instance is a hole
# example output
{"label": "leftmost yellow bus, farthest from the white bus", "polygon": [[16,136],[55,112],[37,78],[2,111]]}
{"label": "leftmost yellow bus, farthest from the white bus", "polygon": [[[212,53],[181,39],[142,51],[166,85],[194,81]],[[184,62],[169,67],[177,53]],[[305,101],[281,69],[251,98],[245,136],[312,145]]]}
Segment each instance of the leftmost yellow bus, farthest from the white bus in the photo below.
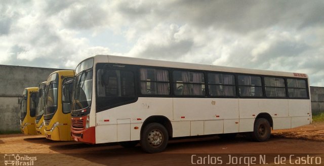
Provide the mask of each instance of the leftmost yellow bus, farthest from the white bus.
{"label": "leftmost yellow bus, farthest from the white bus", "polygon": [[26,135],[35,135],[36,95],[38,88],[25,88],[20,98],[20,130]]}

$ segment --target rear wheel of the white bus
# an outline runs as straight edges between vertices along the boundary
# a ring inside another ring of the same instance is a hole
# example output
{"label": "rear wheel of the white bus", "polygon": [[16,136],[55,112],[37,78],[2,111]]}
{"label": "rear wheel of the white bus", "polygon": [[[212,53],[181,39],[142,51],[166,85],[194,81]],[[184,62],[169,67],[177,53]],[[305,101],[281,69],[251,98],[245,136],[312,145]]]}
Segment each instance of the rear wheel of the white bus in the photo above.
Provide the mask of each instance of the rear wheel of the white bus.
{"label": "rear wheel of the white bus", "polygon": [[254,130],[251,138],[257,142],[268,141],[271,135],[270,123],[265,118],[257,118],[254,123]]}

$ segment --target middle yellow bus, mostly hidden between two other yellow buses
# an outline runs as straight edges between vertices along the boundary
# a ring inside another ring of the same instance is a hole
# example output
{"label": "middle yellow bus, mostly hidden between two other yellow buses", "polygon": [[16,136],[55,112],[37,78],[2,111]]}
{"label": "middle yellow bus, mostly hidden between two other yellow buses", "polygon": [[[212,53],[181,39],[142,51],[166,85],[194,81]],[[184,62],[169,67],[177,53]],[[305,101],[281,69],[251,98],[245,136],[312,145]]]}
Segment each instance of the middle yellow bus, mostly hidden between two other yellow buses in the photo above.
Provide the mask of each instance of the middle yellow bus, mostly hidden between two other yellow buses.
{"label": "middle yellow bus, mostly hidden between two other yellow buses", "polygon": [[46,81],[42,82],[38,86],[38,94],[37,94],[37,107],[36,107],[36,115],[35,115],[35,126],[36,133],[38,135],[45,135],[44,133],[44,93],[46,88]]}

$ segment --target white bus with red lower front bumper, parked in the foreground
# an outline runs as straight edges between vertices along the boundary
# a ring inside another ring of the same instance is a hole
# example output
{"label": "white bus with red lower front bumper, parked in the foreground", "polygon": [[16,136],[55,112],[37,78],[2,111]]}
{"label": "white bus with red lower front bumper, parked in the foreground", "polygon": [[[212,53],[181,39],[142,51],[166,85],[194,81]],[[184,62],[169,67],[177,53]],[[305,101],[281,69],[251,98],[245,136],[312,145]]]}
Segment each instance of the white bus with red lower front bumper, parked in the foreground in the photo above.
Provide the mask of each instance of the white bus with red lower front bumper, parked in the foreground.
{"label": "white bus with red lower front bumper, parked in the foreground", "polygon": [[97,55],[75,69],[71,135],[91,144],[138,142],[149,153],[169,138],[248,133],[311,122],[308,76]]}

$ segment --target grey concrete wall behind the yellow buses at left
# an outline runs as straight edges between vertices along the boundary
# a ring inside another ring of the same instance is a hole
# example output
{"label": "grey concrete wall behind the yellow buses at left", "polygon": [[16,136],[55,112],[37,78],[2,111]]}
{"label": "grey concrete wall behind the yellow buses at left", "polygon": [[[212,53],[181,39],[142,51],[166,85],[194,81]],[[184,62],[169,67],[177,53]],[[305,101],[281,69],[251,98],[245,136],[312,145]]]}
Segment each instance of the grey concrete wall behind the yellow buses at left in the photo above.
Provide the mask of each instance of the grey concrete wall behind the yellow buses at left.
{"label": "grey concrete wall behind the yellow buses at left", "polygon": [[18,97],[56,70],[60,69],[0,65],[0,131],[20,130]]}

